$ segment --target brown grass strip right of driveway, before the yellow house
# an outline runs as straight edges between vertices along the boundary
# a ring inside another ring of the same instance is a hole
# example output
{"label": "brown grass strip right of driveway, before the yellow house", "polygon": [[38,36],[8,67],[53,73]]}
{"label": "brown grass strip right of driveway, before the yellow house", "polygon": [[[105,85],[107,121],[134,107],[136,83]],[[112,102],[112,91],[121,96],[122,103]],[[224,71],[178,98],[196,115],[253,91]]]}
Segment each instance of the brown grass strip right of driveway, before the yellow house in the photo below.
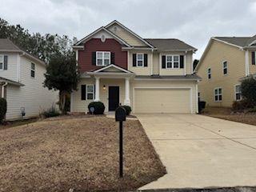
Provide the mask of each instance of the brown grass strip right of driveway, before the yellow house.
{"label": "brown grass strip right of driveway, before the yellow house", "polygon": [[256,126],[256,114],[231,114],[230,108],[207,107],[203,111],[203,114],[214,118],[222,118],[233,122],[242,122]]}

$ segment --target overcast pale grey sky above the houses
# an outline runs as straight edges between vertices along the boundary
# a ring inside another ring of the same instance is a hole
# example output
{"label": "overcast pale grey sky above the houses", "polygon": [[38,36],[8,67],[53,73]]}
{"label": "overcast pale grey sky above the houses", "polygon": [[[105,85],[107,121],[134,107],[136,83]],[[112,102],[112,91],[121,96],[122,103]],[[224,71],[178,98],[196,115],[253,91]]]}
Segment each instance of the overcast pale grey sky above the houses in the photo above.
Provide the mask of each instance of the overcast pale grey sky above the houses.
{"label": "overcast pale grey sky above the houses", "polygon": [[212,36],[256,34],[256,0],[0,0],[0,17],[30,32],[78,39],[114,19],[142,38],[179,38],[198,48]]}

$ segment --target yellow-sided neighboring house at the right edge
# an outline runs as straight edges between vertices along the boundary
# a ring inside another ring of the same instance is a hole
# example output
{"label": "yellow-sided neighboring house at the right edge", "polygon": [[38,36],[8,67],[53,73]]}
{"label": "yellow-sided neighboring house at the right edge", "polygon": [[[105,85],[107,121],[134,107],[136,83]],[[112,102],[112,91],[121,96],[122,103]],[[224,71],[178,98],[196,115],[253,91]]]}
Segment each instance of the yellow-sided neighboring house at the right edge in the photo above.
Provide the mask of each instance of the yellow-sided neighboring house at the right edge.
{"label": "yellow-sided neighboring house at the right edge", "polygon": [[200,100],[208,106],[232,106],[241,99],[242,78],[256,74],[254,37],[210,38],[195,71]]}

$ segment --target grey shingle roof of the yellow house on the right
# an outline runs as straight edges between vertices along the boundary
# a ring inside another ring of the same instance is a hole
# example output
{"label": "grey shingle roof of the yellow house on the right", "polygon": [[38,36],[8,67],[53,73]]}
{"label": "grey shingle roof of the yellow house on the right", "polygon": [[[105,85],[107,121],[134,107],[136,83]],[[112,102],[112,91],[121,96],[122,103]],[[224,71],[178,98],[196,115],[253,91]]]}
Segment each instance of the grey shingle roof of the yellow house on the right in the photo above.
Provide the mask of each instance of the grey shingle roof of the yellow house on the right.
{"label": "grey shingle roof of the yellow house on the right", "polygon": [[229,42],[236,46],[249,46],[250,43],[256,40],[256,35],[253,37],[214,37],[224,42]]}

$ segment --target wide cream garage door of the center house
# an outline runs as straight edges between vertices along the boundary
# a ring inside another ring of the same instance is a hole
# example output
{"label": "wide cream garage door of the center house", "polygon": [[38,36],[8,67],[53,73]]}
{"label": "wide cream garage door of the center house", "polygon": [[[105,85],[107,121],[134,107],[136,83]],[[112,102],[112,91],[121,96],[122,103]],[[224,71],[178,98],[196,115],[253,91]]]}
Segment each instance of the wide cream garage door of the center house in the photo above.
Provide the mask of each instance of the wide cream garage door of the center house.
{"label": "wide cream garage door of the center house", "polygon": [[191,113],[190,89],[136,88],[135,113]]}

